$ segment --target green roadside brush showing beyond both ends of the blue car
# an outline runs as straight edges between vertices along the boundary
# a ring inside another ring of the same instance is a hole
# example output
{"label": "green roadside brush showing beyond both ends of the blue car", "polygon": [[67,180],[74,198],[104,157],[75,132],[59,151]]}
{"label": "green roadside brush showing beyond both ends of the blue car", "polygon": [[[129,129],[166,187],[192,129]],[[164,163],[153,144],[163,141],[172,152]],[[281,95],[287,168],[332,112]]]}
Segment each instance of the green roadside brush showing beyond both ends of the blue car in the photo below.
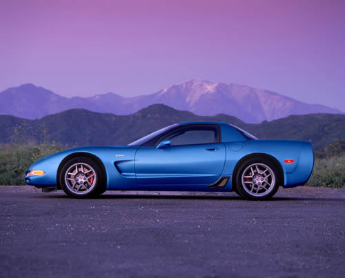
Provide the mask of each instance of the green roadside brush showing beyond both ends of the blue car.
{"label": "green roadside brush showing beyond both ends of the blue car", "polygon": [[[28,167],[43,157],[68,148],[57,144],[30,145],[23,143],[0,145],[0,185],[23,185]],[[315,158],[313,175],[307,186],[345,188],[345,153],[342,150]]]}

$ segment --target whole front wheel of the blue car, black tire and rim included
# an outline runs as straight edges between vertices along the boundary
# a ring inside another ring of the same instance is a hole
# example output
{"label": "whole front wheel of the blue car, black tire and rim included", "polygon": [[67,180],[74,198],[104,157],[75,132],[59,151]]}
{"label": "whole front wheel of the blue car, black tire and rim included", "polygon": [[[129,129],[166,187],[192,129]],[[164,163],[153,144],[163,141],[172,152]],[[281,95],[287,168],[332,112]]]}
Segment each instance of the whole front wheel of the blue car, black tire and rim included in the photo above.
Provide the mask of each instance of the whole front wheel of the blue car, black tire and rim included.
{"label": "whole front wheel of the blue car, black tire and rim included", "polygon": [[99,163],[88,157],[75,157],[61,168],[62,190],[74,198],[92,198],[106,191],[106,177]]}

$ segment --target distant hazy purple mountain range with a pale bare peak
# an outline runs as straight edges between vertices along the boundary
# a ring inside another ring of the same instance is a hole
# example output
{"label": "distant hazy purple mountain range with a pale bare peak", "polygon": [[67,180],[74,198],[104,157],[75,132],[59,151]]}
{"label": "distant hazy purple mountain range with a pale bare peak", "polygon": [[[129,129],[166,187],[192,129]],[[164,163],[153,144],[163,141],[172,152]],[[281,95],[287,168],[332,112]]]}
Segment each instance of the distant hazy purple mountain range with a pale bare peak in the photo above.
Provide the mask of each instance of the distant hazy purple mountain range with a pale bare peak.
{"label": "distant hazy purple mountain range with a pale bare peak", "polygon": [[130,115],[155,103],[162,103],[196,115],[233,115],[246,123],[260,123],[314,113],[341,111],[323,105],[308,104],[268,90],[259,90],[235,83],[212,83],[190,79],[159,92],[138,97],[121,97],[114,93],[93,97],[62,97],[31,83],[0,92],[0,115],[40,119],[74,108],[92,112]]}

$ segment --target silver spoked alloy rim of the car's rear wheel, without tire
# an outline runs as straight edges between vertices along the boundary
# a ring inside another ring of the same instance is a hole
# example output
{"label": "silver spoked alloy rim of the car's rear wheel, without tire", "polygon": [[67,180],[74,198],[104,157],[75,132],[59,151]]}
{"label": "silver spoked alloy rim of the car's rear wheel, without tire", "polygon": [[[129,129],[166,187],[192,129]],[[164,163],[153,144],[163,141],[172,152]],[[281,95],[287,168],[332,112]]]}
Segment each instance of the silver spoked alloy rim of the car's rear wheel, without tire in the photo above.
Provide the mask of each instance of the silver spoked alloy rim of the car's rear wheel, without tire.
{"label": "silver spoked alloy rim of the car's rear wheel, without tire", "polygon": [[268,195],[275,182],[275,172],[264,163],[253,163],[242,173],[242,186],[253,197]]}

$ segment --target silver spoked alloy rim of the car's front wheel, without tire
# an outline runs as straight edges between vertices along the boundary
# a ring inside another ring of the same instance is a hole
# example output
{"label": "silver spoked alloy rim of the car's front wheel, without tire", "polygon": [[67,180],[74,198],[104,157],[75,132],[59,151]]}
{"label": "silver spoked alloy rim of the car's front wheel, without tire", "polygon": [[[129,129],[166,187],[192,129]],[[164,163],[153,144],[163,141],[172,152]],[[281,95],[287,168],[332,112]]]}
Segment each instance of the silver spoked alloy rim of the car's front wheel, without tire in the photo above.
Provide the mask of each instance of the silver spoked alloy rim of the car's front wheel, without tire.
{"label": "silver spoked alloy rim of the car's front wheel, without tire", "polygon": [[65,183],[71,192],[84,195],[95,188],[97,174],[87,163],[75,163],[66,171]]}

